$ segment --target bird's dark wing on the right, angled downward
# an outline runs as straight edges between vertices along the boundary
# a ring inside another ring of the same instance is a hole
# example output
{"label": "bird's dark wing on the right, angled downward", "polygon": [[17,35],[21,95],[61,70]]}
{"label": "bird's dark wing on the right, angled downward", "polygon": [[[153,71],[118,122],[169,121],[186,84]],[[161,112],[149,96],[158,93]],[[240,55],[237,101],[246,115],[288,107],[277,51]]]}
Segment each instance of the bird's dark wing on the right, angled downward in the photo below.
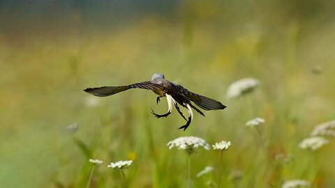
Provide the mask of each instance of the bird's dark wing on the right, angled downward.
{"label": "bird's dark wing on the right, angled downward", "polygon": [[198,95],[197,93],[193,93],[191,91],[188,91],[183,86],[179,86],[177,84],[172,84],[175,88],[178,89],[179,93],[184,95],[188,100],[191,100],[195,104],[198,105],[198,107],[204,109],[204,110],[217,110],[217,109],[225,109],[225,105],[223,105],[221,102],[218,102],[216,100],[213,100],[209,97],[205,97],[202,95]]}

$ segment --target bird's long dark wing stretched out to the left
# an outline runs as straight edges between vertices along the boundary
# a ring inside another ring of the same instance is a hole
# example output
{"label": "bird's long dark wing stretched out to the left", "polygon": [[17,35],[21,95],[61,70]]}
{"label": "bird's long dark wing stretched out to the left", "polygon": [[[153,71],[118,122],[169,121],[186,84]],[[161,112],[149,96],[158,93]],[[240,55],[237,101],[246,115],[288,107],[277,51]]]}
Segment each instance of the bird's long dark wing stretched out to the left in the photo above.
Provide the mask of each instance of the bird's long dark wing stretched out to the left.
{"label": "bird's long dark wing stretched out to the left", "polygon": [[92,95],[96,95],[98,97],[106,97],[109,95],[120,93],[121,91],[126,91],[131,88],[142,88],[156,91],[158,89],[163,88],[163,86],[154,84],[151,81],[143,81],[136,84],[130,84],[128,86],[103,86],[100,88],[87,88],[84,91],[86,91],[87,93],[91,93]]}

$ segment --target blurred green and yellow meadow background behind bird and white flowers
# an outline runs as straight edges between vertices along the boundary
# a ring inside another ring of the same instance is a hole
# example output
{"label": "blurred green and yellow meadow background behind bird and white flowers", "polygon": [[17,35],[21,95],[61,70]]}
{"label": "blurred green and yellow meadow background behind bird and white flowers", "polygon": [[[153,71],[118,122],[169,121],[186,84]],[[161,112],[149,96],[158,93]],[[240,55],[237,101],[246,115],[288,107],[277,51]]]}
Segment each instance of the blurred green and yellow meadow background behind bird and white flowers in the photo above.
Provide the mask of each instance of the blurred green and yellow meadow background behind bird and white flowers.
{"label": "blurred green and yellow meadow background behind bird and white flowers", "polygon": [[[130,187],[184,187],[186,155],[168,150],[178,136],[225,152],[225,187],[281,187],[305,179],[335,184],[334,143],[316,152],[297,144],[335,118],[334,1],[0,1],[0,187],[120,187],[107,163],[133,159]],[[223,102],[223,111],[184,120],[149,91],[97,98],[83,89],[147,81],[154,72]],[[225,98],[237,79],[254,77],[250,95]],[[260,148],[247,120],[265,118]],[[77,123],[78,132],[66,131]],[[277,164],[278,154],[292,155]],[[195,178],[219,154],[192,156]],[[226,178],[241,171],[241,179]],[[218,179],[218,172],[207,177]]]}

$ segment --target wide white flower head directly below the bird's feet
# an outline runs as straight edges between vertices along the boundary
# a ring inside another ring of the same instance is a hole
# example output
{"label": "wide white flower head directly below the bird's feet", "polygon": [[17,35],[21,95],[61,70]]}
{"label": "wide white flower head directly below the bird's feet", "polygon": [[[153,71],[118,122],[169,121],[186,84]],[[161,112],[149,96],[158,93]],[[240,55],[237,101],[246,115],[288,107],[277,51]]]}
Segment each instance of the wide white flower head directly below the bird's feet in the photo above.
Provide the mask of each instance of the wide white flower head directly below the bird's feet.
{"label": "wide white flower head directly below the bird's feet", "polygon": [[209,144],[199,137],[195,136],[183,136],[173,141],[168,142],[169,149],[174,147],[178,148],[179,150],[186,150],[188,154],[191,154],[195,148],[203,147],[205,150],[209,150]]}

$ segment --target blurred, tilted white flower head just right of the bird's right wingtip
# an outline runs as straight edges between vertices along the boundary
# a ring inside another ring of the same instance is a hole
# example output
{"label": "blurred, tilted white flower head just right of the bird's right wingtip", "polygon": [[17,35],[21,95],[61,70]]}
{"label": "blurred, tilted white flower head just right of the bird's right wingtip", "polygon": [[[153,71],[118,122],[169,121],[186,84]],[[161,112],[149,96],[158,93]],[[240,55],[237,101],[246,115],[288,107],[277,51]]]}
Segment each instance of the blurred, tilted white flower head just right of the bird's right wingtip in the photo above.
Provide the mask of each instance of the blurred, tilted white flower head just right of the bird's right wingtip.
{"label": "blurred, tilted white flower head just right of the bird's right wingtip", "polygon": [[258,80],[253,78],[244,78],[230,84],[225,95],[228,99],[239,97],[248,91],[252,91],[258,85]]}

